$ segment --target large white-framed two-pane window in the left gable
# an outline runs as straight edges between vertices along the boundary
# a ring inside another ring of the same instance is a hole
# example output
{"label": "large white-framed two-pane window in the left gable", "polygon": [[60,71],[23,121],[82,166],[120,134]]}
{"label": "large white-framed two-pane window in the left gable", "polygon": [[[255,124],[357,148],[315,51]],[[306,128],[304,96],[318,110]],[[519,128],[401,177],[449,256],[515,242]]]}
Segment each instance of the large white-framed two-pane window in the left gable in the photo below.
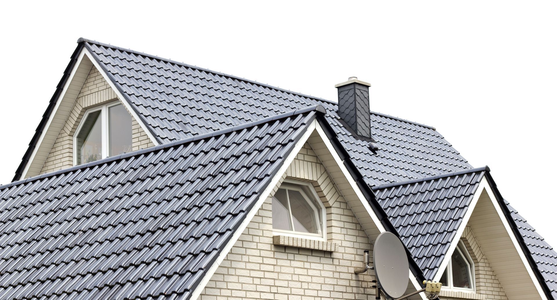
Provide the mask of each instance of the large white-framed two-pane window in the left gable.
{"label": "large white-framed two-pane window in the left gable", "polygon": [[131,116],[120,102],[87,110],[74,136],[74,164],[131,151]]}

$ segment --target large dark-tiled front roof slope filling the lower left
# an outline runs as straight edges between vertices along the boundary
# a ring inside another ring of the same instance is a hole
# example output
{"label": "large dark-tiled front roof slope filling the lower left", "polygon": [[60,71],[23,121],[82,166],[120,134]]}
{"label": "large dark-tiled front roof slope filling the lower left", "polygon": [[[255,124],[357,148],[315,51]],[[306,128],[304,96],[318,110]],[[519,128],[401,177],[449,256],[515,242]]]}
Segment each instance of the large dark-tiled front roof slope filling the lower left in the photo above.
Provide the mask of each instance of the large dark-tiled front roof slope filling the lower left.
{"label": "large dark-tiled front roof slope filling the lower left", "polygon": [[189,298],[322,113],[309,107],[0,186],[0,299]]}

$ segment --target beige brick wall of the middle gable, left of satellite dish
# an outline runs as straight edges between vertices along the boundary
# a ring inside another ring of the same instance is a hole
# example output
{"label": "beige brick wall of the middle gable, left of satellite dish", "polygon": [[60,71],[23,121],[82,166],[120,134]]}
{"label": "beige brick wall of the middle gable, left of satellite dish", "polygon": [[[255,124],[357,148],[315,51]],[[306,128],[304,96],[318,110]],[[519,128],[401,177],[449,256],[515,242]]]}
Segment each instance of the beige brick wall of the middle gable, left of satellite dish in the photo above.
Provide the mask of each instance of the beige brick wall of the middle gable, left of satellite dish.
{"label": "beige brick wall of the middle gable, left of satellite dish", "polygon": [[271,198],[267,198],[199,298],[374,299],[369,288],[373,272],[354,274],[354,268],[363,267],[364,250],[372,250],[372,245],[309,145],[285,178],[315,186],[326,208],[327,240],[338,245],[336,251],[273,245]]}

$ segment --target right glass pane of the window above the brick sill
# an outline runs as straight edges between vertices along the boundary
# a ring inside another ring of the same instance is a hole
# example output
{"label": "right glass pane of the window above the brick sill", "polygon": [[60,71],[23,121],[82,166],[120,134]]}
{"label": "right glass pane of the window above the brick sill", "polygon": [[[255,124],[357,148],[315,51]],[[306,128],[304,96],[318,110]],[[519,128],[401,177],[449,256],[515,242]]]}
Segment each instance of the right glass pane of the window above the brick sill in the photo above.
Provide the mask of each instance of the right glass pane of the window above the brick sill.
{"label": "right glass pane of the window above the brick sill", "polygon": [[290,209],[292,210],[292,222],[294,231],[306,233],[319,233],[315,222],[315,210],[297,190],[288,191]]}

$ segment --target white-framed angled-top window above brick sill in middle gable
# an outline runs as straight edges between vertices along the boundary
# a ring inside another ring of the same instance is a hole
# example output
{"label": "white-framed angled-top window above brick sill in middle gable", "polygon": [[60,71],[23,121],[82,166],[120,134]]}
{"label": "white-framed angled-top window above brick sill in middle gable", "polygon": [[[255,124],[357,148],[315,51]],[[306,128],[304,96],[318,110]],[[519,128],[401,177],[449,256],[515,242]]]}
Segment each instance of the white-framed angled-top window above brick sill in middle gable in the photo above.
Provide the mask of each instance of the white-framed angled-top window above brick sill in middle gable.
{"label": "white-framed angled-top window above brick sill in middle gable", "polygon": [[275,232],[324,238],[325,208],[310,184],[285,180],[273,195],[271,209]]}

